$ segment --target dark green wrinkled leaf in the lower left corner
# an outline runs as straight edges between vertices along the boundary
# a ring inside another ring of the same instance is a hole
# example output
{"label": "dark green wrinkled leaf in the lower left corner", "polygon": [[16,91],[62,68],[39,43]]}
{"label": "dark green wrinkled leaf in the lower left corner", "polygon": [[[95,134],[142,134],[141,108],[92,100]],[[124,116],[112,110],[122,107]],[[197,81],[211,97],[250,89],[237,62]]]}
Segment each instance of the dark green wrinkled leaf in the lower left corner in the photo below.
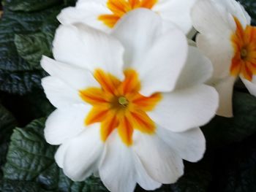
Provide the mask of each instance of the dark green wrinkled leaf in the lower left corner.
{"label": "dark green wrinkled leaf in the lower left corner", "polygon": [[40,119],[25,128],[15,128],[4,166],[4,180],[37,183],[46,191],[107,191],[97,178],[74,183],[63,174],[53,158],[56,147],[48,145],[43,137],[44,126],[45,120]]}

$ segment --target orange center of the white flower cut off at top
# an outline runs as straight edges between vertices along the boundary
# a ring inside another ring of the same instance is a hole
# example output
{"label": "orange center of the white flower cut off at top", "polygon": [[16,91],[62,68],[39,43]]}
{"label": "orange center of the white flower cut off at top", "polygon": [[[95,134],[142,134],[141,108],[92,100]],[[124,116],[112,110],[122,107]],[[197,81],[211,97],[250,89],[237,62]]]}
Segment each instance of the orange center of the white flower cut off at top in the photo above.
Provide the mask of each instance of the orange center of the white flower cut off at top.
{"label": "orange center of the white flower cut off at top", "polygon": [[108,0],[107,7],[113,14],[99,15],[98,19],[106,26],[113,28],[116,22],[132,9],[140,7],[151,9],[156,3],[157,0]]}

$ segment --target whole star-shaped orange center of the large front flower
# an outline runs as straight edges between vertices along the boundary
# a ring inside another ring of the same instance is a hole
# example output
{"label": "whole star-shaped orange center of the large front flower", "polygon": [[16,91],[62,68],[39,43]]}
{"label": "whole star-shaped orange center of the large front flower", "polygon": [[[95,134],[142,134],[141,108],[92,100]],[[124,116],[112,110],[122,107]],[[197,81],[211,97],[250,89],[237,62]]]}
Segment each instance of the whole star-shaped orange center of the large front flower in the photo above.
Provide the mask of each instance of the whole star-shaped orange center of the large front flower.
{"label": "whole star-shaped orange center of the large front flower", "polygon": [[146,97],[140,95],[138,74],[128,69],[124,71],[123,82],[101,69],[94,72],[94,78],[101,88],[87,88],[80,91],[83,101],[93,107],[86,117],[86,126],[101,123],[101,138],[106,141],[117,128],[121,140],[132,145],[134,129],[145,134],[154,134],[156,126],[146,112],[151,111],[161,99],[160,93]]}

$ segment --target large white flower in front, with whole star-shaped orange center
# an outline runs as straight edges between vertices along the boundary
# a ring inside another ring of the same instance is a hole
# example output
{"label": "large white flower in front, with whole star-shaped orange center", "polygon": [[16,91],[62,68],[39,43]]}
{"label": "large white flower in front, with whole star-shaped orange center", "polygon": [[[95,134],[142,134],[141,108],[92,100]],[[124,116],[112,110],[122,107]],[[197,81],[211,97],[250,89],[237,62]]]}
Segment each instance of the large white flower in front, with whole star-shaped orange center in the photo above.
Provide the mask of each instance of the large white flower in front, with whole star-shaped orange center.
{"label": "large white flower in front, with whole star-shaped orange center", "polygon": [[124,16],[111,36],[83,24],[59,27],[56,60],[42,58],[50,74],[42,85],[57,108],[45,138],[61,145],[55,158],[68,177],[96,173],[113,192],[136,183],[154,190],[178,180],[182,159],[202,158],[198,126],[214,116],[218,96],[203,85],[210,61],[195,47],[187,52],[185,35],[147,9]]}

